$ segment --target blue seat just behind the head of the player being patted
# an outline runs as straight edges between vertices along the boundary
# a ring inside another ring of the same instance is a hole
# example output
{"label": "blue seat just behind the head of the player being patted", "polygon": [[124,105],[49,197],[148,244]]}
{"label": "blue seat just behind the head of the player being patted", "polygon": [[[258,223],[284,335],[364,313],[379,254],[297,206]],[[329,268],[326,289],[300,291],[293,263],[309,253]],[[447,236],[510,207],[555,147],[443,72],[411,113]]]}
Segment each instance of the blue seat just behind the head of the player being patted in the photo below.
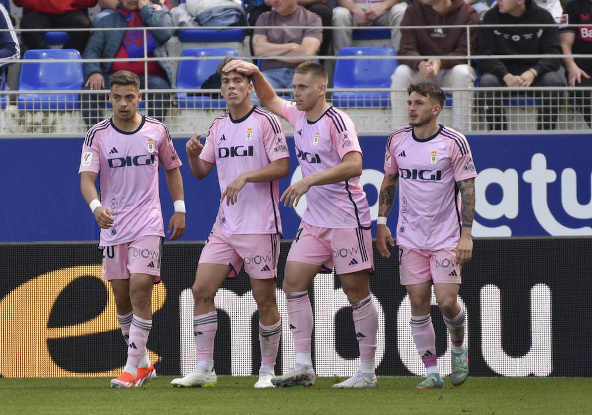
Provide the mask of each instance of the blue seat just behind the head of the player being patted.
{"label": "blue seat just behind the head of the player being patted", "polygon": [[[195,90],[201,88],[222,62],[220,58],[208,59],[208,56],[239,56],[239,52],[232,47],[196,47],[183,50],[181,56],[195,56],[195,59],[179,61],[177,88]],[[177,94],[177,102],[179,108],[226,108],[223,98],[188,96],[186,92]]]}

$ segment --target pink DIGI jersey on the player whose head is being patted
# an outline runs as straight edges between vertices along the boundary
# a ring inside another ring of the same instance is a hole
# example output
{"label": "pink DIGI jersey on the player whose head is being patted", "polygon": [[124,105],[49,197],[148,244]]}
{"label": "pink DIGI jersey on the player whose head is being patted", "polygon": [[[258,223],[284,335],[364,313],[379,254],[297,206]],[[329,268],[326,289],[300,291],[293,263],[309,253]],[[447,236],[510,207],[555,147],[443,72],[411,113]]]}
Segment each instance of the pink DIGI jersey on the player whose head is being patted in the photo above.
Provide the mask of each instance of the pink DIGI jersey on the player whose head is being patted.
{"label": "pink DIGI jersey on the player whose head is being patted", "polygon": [[[217,117],[205,139],[202,159],[215,163],[220,193],[239,175],[289,157],[284,128],[268,111],[253,106],[239,120],[230,112]],[[279,181],[247,183],[237,203],[220,203],[215,225],[228,234],[282,233],[278,210]]]}

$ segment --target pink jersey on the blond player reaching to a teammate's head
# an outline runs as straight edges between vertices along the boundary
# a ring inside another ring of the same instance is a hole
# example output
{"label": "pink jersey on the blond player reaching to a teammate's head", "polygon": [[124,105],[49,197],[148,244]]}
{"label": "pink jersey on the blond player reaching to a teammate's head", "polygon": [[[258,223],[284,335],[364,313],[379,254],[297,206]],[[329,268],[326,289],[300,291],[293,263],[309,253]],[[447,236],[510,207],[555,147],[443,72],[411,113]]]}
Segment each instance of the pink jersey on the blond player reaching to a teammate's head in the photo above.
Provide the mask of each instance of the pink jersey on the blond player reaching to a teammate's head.
{"label": "pink jersey on the blond player reaching to a teammate's head", "polygon": [[[285,102],[282,116],[294,127],[294,145],[303,177],[329,170],[350,151],[362,150],[348,114],[330,107],[315,122],[293,102]],[[311,187],[306,194],[303,221],[321,228],[369,228],[370,209],[359,177]]]}

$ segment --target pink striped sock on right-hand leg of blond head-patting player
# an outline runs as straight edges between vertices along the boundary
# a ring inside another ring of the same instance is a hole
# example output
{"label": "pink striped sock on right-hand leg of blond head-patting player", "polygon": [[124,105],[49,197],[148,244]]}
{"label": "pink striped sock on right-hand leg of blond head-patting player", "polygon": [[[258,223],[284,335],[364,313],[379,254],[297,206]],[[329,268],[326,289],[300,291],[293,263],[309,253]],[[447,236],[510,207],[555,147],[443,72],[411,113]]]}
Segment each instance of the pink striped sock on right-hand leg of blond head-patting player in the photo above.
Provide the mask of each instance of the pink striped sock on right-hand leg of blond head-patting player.
{"label": "pink striped sock on right-hand leg of blond head-patting player", "polygon": [[360,351],[362,372],[374,373],[374,359],[376,356],[376,338],[378,335],[378,313],[372,294],[362,299],[353,308],[353,327],[356,330],[358,348]]}

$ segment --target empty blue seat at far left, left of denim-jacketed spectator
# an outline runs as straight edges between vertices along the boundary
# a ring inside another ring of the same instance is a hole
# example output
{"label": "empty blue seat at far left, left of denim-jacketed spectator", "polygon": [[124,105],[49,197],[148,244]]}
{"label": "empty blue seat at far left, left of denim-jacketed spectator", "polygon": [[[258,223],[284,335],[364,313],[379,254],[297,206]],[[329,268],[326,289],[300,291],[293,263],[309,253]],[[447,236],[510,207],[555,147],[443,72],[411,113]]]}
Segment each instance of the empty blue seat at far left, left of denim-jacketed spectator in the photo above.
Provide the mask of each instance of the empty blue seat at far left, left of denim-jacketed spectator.
{"label": "empty blue seat at far left, left of denim-jacketed spectator", "polygon": [[[19,91],[80,90],[84,83],[80,53],[75,49],[31,49],[25,52],[18,78]],[[43,59],[45,62],[27,62]],[[52,59],[78,59],[79,62],[52,62]],[[19,94],[19,110],[75,110],[79,94]]]}

